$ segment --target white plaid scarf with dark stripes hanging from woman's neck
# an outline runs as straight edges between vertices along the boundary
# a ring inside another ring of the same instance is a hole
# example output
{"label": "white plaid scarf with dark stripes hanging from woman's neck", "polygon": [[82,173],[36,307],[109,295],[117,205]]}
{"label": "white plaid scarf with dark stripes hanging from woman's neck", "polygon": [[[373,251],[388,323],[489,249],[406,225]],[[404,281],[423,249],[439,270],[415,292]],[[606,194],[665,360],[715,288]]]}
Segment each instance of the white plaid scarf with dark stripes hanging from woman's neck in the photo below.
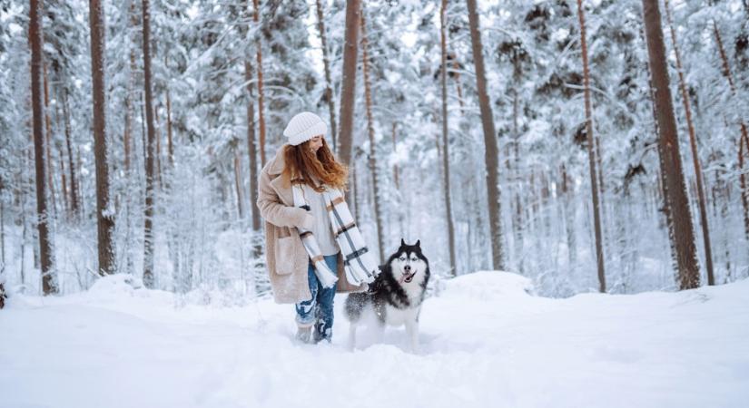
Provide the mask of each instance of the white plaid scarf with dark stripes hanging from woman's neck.
{"label": "white plaid scarf with dark stripes hanging from woman's neck", "polygon": [[[301,189],[301,185],[295,184],[291,187],[291,190],[294,197],[294,207],[309,210],[310,206],[307,200],[304,199],[304,192]],[[327,203],[333,235],[343,256],[343,268],[346,272],[346,280],[350,284],[357,286],[372,282],[379,274],[379,267],[372,257],[369,248],[364,243],[364,238],[361,237],[360,230],[356,226],[349,206],[340,194],[340,190],[325,187],[322,196]],[[299,231],[304,248],[307,249],[307,254],[310,256],[312,265],[315,267],[315,275],[320,279],[320,284],[323,287],[333,287],[338,277],[325,264],[324,258],[320,255],[320,246],[314,234],[304,228],[299,228]]]}

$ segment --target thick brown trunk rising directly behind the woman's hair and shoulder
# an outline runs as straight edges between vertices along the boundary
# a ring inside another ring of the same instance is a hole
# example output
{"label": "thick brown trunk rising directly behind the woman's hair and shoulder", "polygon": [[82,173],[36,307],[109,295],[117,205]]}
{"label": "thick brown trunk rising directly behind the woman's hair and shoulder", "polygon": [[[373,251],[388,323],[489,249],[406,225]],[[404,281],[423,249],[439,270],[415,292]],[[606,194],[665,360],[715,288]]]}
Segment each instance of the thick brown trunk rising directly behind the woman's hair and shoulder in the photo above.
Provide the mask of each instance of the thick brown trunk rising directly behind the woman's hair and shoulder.
{"label": "thick brown trunk rising directly behind the woman's hair and shoulder", "polygon": [[351,164],[354,105],[356,101],[356,62],[359,45],[360,0],[346,3],[346,31],[343,45],[343,78],[340,84],[340,131],[338,155],[346,166]]}

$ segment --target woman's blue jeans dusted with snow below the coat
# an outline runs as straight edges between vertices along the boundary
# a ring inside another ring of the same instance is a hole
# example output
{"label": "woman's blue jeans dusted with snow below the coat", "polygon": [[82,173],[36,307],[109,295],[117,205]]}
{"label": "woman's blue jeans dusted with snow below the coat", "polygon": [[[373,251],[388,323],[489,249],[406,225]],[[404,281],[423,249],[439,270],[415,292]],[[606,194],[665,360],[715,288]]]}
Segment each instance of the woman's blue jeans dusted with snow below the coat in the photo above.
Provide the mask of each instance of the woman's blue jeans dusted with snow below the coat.
{"label": "woman's blue jeans dusted with snow below the coat", "polygon": [[[324,259],[330,270],[336,273],[338,254],[326,256]],[[333,296],[336,294],[336,286],[326,288],[320,285],[311,259],[307,267],[307,281],[312,298],[294,305],[297,310],[297,324],[301,327],[314,325],[312,338],[315,343],[320,340],[330,342],[333,337]]]}

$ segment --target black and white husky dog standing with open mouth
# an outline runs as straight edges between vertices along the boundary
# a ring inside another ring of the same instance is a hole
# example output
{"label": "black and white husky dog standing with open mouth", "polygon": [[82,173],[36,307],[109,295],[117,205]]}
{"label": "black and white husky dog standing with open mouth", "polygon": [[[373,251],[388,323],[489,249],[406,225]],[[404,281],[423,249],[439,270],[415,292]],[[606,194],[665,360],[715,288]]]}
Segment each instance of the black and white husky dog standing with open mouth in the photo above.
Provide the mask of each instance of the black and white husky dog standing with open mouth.
{"label": "black and white husky dog standing with open mouth", "polygon": [[362,316],[374,312],[379,337],[385,325],[406,325],[411,350],[419,352],[419,311],[429,282],[429,260],[421,253],[420,241],[400,247],[392,254],[366,293],[352,293],[346,298],[346,316],[350,321],[349,346],[356,345],[356,329]]}

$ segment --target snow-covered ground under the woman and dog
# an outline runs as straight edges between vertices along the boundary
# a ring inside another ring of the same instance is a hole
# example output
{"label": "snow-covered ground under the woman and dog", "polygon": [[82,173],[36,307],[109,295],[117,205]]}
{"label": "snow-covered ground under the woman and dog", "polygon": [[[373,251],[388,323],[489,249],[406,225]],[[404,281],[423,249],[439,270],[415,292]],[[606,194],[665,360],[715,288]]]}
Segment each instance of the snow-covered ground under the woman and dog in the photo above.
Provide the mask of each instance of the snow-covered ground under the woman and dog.
{"label": "snow-covered ground under the woman and dog", "polygon": [[[200,306],[108,277],[0,311],[0,406],[745,407],[749,280],[680,293],[528,294],[524,277],[442,282],[403,328],[346,346],[292,340],[293,307]],[[185,301],[186,299],[186,301]]]}

